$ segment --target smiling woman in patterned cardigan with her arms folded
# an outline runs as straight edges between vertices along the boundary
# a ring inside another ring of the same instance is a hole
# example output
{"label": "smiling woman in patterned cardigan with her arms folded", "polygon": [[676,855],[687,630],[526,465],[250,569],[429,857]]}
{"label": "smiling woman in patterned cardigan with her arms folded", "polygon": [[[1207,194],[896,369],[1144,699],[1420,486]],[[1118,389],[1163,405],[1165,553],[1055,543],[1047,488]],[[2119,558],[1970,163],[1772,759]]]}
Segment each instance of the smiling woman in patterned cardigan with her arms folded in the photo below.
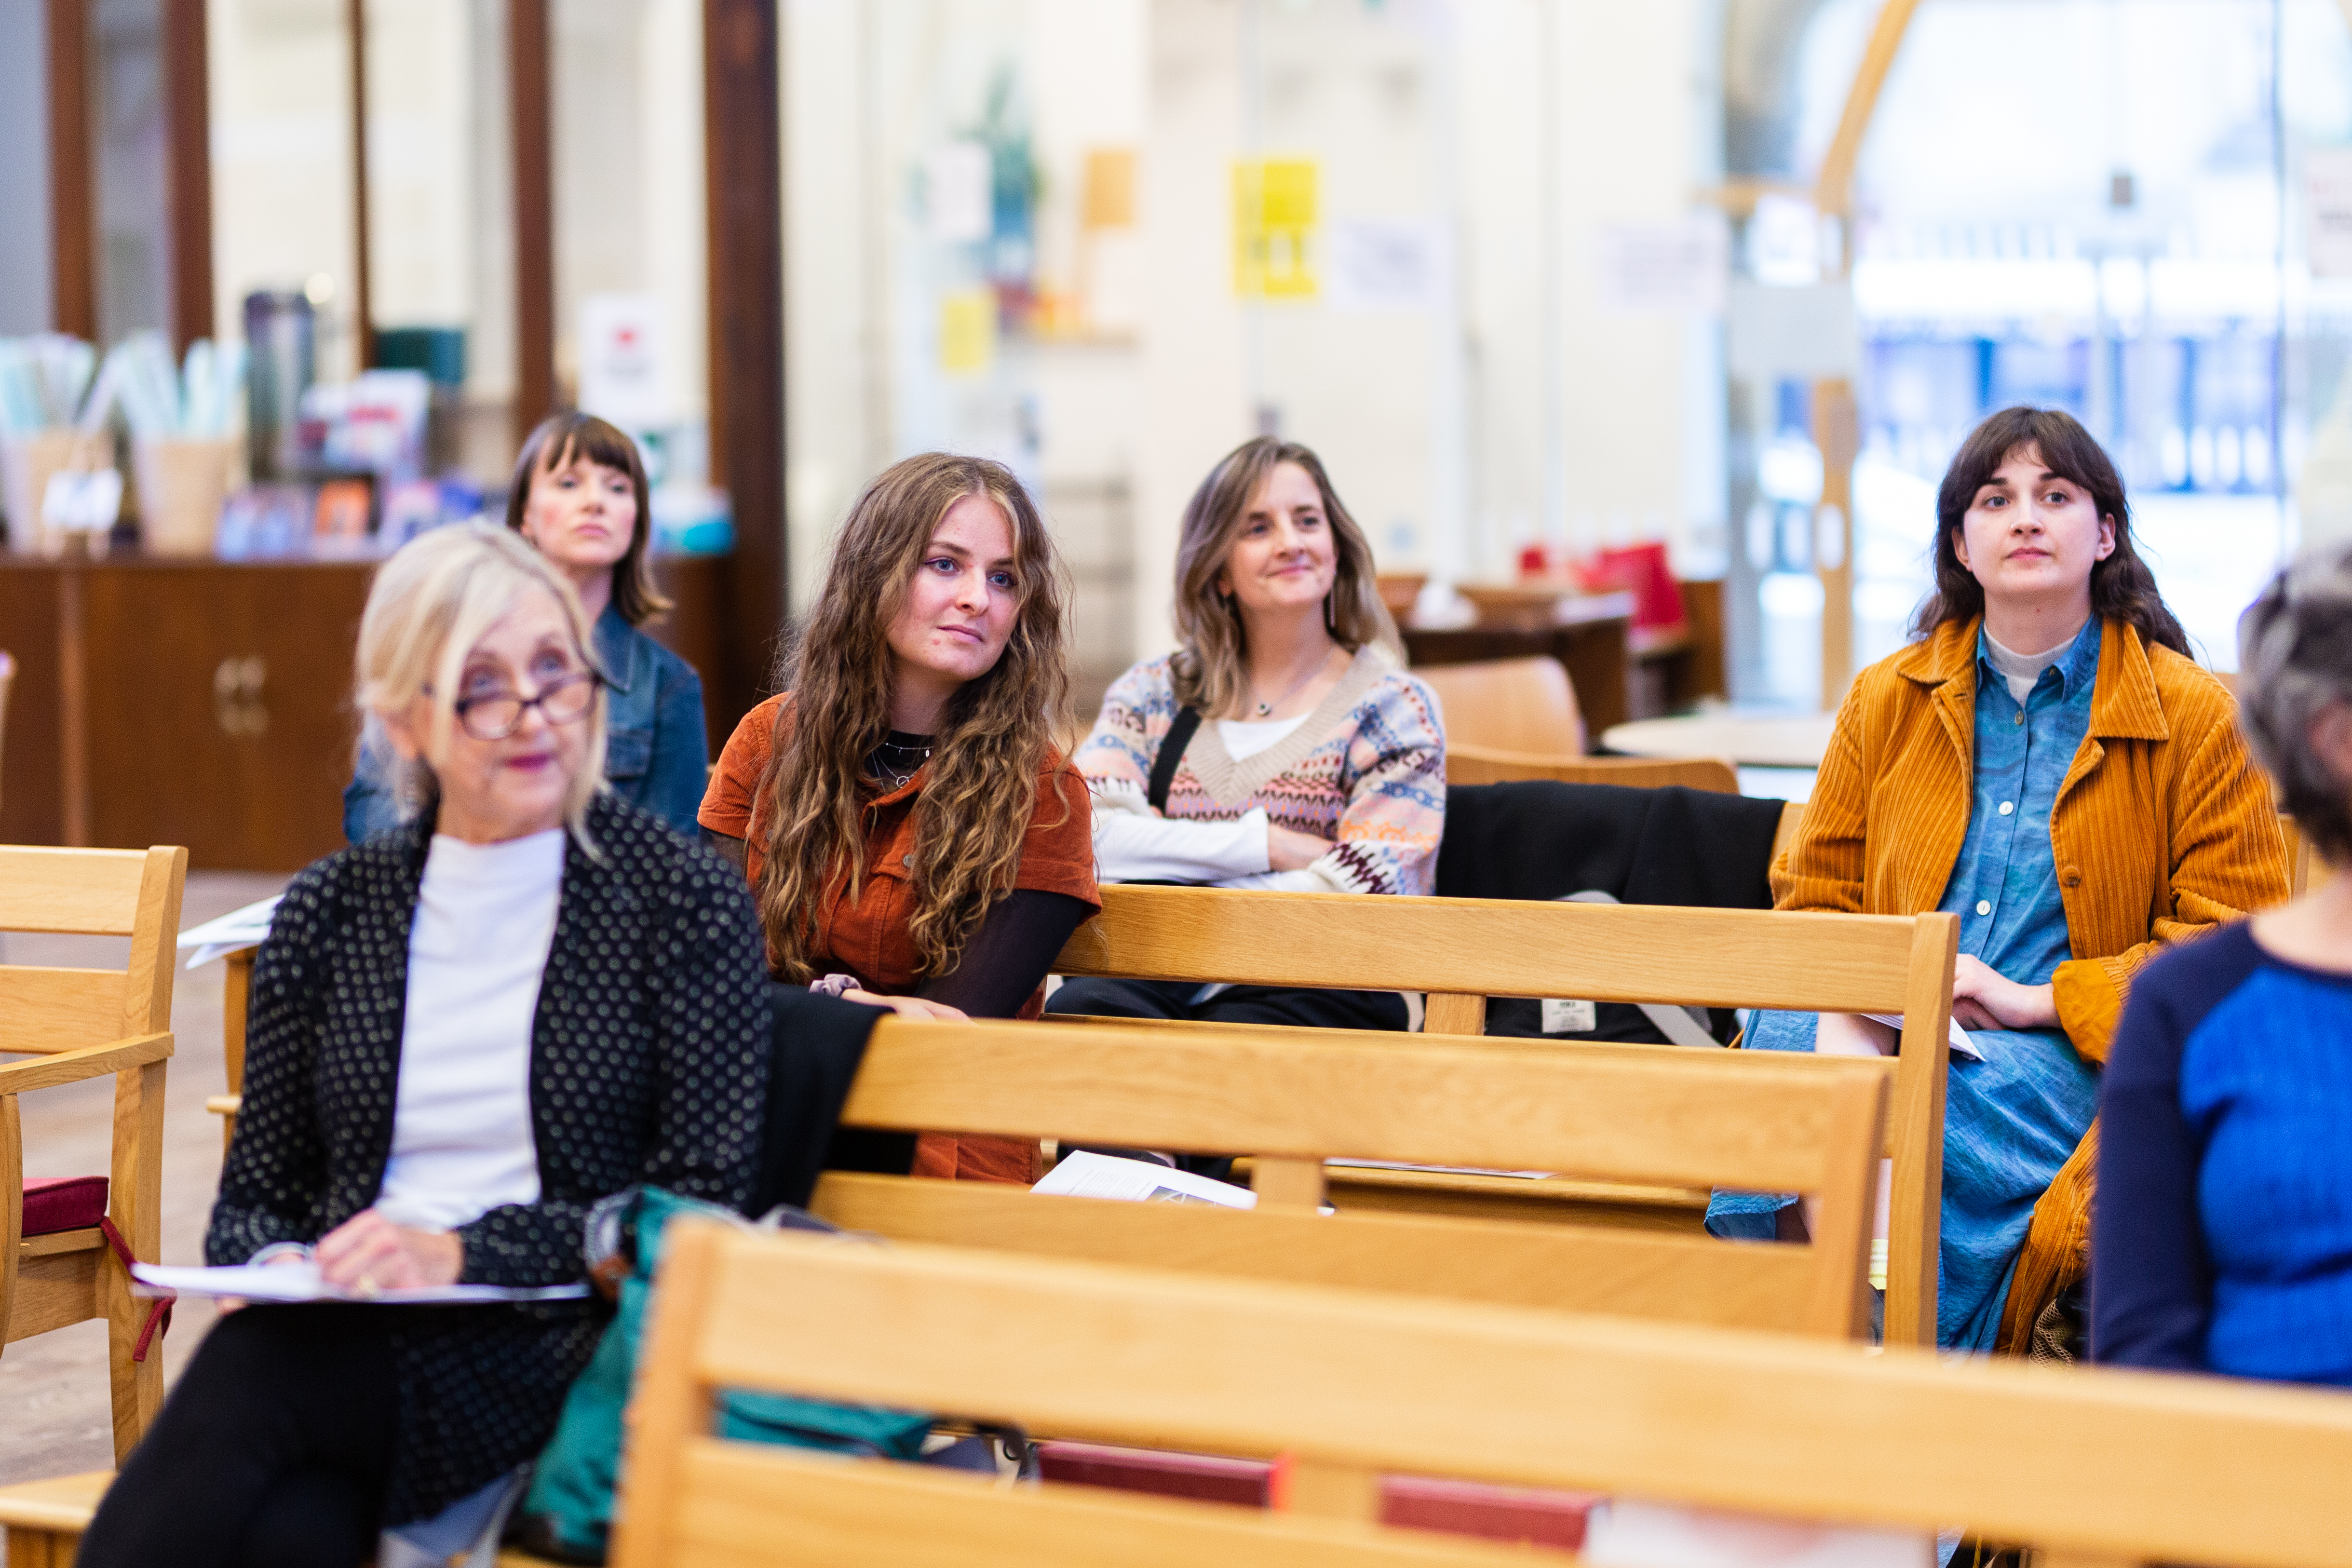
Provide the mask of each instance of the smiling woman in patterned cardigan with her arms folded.
{"label": "smiling woman in patterned cardigan with her arms folded", "polygon": [[[1183,646],[1122,675],[1077,766],[1096,870],[1308,893],[1428,893],[1446,823],[1437,698],[1399,668],[1371,545],[1305,447],[1261,437],[1192,494]],[[1397,992],[1073,980],[1063,1013],[1409,1027]]]}

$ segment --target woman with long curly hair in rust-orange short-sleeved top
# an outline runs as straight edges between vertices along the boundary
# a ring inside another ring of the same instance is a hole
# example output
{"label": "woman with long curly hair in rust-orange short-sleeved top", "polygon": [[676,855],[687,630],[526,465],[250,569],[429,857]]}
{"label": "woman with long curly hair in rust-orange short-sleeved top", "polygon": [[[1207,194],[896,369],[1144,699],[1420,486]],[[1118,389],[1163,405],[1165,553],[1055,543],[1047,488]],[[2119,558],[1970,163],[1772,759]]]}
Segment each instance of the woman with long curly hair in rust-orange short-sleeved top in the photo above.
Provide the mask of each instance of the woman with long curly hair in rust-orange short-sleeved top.
{"label": "woman with long curly hair in rust-orange short-sleeved top", "polygon": [[[1035,1018],[1101,900],[1068,705],[1054,541],[1014,475],[924,454],[833,545],[786,691],[736,724],[703,797],[783,980],[910,1016]],[[924,1133],[917,1175],[1023,1180],[1037,1145]]]}

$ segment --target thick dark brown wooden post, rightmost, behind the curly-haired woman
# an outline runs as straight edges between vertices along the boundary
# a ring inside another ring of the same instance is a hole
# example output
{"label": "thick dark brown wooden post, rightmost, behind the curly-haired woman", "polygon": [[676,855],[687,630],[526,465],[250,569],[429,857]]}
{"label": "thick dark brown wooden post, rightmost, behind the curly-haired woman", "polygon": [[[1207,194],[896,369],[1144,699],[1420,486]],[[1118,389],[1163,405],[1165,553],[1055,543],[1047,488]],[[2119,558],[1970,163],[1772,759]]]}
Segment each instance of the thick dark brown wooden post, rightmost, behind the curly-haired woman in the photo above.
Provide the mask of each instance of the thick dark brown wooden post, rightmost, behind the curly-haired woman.
{"label": "thick dark brown wooden post, rightmost, behind the curly-haired woman", "polygon": [[722,712],[764,689],[783,628],[783,136],[774,0],[703,0],[710,482],[734,501]]}

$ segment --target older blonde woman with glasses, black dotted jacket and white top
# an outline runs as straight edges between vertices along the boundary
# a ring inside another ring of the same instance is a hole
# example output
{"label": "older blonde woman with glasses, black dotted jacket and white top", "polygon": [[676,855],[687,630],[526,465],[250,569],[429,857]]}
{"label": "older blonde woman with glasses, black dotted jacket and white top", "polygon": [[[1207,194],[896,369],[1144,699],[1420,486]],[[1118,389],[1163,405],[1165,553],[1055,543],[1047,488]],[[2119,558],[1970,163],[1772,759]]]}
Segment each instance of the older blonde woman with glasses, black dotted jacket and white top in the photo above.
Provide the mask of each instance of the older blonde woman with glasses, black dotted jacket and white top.
{"label": "older blonde woman with glasses, black dotted jacket and white top", "polygon": [[101,1505],[89,1566],[452,1556],[595,1349],[590,1208],[753,1190],[760,922],[739,875],[600,788],[569,583],[503,529],[428,534],[379,574],[358,663],[423,806],[278,907],[205,1253],[315,1260],[362,1298],[562,1298],[235,1312]]}

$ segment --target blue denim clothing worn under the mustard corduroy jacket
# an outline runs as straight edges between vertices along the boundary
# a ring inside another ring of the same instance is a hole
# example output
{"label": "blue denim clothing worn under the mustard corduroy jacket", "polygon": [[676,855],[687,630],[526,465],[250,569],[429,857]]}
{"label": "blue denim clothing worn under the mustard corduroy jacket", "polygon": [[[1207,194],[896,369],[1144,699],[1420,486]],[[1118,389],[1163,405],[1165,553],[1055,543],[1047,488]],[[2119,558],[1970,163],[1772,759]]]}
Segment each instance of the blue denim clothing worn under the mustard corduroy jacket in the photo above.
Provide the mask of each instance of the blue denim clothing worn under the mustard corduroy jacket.
{"label": "blue denim clothing worn under the mustard corduroy jacket", "polygon": [[[2018,703],[1976,639],[1976,773],[1969,837],[1938,910],[1959,914],[1959,950],[2004,980],[2046,985],[2072,957],[2051,809],[2091,731],[2100,621],[2093,616]],[[1811,1051],[1813,1013],[1757,1011],[1750,1051]],[[1985,1053],[1952,1058],[1943,1112],[1943,1248],[1936,1342],[1992,1349],[2034,1204],[2098,1110],[2098,1074],[2060,1030],[1971,1030]],[[1717,1192],[1708,1229],[1771,1237],[1792,1199]]]}

